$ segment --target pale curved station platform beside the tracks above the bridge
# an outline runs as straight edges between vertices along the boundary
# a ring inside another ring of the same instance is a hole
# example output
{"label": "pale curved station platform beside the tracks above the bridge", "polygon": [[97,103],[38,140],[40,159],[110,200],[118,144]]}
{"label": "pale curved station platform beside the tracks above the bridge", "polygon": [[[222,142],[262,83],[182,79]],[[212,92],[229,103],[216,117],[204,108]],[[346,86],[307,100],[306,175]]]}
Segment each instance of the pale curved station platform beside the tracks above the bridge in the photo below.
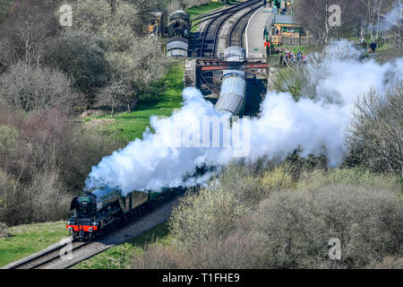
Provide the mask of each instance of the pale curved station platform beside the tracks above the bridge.
{"label": "pale curved station platform beside the tracks above the bridge", "polygon": [[[263,29],[266,24],[273,20],[273,13],[269,4],[253,13],[246,27],[246,57],[266,57],[266,48],[264,47]],[[271,25],[267,26],[271,32]]]}

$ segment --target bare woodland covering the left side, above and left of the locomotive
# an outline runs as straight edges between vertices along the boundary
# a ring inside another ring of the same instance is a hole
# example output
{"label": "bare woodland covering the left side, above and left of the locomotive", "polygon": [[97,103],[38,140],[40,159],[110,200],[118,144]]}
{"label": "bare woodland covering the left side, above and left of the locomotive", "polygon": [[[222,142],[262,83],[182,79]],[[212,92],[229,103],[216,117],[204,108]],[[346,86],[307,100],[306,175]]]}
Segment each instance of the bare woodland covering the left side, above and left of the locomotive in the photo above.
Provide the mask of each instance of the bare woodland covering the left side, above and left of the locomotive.
{"label": "bare woodland covering the left side, above and left of the locomotive", "polygon": [[0,222],[64,219],[93,165],[126,143],[85,109],[135,109],[170,61],[145,24],[159,1],[0,1]]}

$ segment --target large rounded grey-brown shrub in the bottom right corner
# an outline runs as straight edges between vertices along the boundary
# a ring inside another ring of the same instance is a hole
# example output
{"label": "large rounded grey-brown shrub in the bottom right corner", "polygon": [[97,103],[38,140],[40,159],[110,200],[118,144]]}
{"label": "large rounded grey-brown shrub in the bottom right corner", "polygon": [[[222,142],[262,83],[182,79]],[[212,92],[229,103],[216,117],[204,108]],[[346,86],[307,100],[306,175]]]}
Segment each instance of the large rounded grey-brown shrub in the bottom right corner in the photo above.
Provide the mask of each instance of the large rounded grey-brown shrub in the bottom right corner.
{"label": "large rounded grey-brown shrub in the bottom right corner", "polygon": [[[401,255],[402,215],[399,196],[388,188],[333,184],[274,193],[254,221],[267,268],[361,268]],[[332,238],[341,241],[341,260],[328,258]]]}

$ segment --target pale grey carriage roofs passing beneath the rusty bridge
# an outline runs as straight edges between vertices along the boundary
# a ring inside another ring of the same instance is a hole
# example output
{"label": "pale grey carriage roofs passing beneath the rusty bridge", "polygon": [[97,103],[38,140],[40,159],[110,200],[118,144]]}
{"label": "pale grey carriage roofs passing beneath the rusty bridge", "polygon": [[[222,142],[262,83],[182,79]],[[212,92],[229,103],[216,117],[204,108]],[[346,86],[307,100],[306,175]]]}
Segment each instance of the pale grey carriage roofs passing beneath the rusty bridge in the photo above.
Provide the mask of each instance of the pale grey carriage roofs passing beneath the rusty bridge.
{"label": "pale grey carriage roofs passing beneath the rusty bridge", "polygon": [[[241,47],[228,47],[224,51],[224,59],[229,62],[244,62],[246,52]],[[244,110],[246,78],[243,71],[224,70],[221,91],[215,109],[231,116],[240,115]]]}

